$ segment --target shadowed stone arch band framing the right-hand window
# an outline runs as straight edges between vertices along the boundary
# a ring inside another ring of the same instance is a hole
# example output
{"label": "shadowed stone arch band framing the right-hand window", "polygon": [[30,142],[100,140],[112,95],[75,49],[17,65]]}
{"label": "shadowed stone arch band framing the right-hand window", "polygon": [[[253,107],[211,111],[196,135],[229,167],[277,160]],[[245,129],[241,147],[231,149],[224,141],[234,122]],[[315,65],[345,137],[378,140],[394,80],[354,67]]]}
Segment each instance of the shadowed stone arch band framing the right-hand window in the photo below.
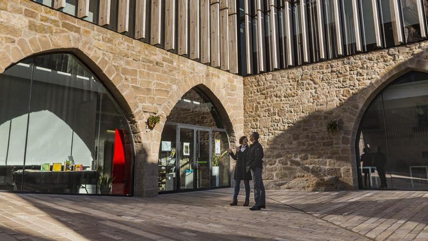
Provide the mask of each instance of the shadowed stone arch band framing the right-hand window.
{"label": "shadowed stone arch band framing the right-hand window", "polygon": [[406,74],[411,71],[419,71],[428,73],[428,59],[426,57],[427,50],[424,50],[422,53],[412,56],[410,59],[401,62],[390,69],[387,69],[386,72],[376,78],[370,85],[368,85],[364,90],[357,94],[356,97],[361,98],[359,101],[359,106],[357,110],[357,115],[355,116],[354,123],[351,126],[351,143],[349,147],[351,148],[351,167],[354,178],[354,186],[358,189],[358,176],[357,176],[357,159],[355,152],[355,143],[357,142],[357,133],[358,128],[361,124],[361,120],[364,116],[364,113],[369,108],[370,104],[373,102],[375,97],[384,90],[389,84],[391,84],[397,77]]}

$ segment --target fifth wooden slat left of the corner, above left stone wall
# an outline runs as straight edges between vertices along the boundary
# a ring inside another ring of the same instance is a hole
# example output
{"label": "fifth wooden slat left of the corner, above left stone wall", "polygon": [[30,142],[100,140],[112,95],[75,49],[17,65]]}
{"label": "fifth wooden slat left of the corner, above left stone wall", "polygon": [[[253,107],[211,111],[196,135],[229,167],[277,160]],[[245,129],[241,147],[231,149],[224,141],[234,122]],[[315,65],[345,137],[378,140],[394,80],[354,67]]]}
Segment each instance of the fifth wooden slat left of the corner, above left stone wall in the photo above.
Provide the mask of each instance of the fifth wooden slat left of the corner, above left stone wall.
{"label": "fifth wooden slat left of the corner, above left stone wall", "polygon": [[190,0],[190,58],[199,57],[199,0]]}

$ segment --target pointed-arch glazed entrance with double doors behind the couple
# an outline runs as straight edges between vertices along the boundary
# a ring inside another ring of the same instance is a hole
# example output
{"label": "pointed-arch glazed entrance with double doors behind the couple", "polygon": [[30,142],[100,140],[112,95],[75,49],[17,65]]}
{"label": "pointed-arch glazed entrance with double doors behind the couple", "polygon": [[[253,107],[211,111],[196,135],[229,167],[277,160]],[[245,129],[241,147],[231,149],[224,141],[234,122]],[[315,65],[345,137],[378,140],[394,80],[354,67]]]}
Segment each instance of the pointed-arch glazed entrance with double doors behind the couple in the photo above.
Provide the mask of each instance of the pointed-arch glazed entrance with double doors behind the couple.
{"label": "pointed-arch glazed entrance with double doors behind the couple", "polygon": [[197,87],[178,101],[162,131],[160,192],[230,186],[229,138],[210,99]]}

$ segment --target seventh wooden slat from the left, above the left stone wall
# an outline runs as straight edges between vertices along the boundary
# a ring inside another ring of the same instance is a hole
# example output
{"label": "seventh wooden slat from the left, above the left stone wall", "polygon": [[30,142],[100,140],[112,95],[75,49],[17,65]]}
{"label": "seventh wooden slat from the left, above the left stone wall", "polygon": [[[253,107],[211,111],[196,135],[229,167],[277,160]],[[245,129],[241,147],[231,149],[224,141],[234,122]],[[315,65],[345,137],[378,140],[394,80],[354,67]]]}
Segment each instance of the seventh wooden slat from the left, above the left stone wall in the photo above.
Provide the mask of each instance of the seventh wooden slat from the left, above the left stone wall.
{"label": "seventh wooden slat from the left, above the left stone wall", "polygon": [[165,1],[165,49],[175,49],[176,1]]}

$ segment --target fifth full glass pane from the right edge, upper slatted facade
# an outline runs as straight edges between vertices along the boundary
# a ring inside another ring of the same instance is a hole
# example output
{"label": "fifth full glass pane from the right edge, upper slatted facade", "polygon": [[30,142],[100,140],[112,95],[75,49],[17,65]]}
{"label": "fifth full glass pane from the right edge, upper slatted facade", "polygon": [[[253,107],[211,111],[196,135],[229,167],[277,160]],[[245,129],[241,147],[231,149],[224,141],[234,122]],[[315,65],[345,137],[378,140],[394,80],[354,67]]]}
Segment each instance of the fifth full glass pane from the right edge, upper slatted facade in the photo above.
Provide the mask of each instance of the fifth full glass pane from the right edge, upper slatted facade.
{"label": "fifth full glass pane from the right edge, upper slatted facade", "polygon": [[[334,0],[324,0],[324,28],[328,58],[338,57],[338,38],[336,37],[336,20],[334,13]],[[340,14],[339,14],[340,16]]]}

